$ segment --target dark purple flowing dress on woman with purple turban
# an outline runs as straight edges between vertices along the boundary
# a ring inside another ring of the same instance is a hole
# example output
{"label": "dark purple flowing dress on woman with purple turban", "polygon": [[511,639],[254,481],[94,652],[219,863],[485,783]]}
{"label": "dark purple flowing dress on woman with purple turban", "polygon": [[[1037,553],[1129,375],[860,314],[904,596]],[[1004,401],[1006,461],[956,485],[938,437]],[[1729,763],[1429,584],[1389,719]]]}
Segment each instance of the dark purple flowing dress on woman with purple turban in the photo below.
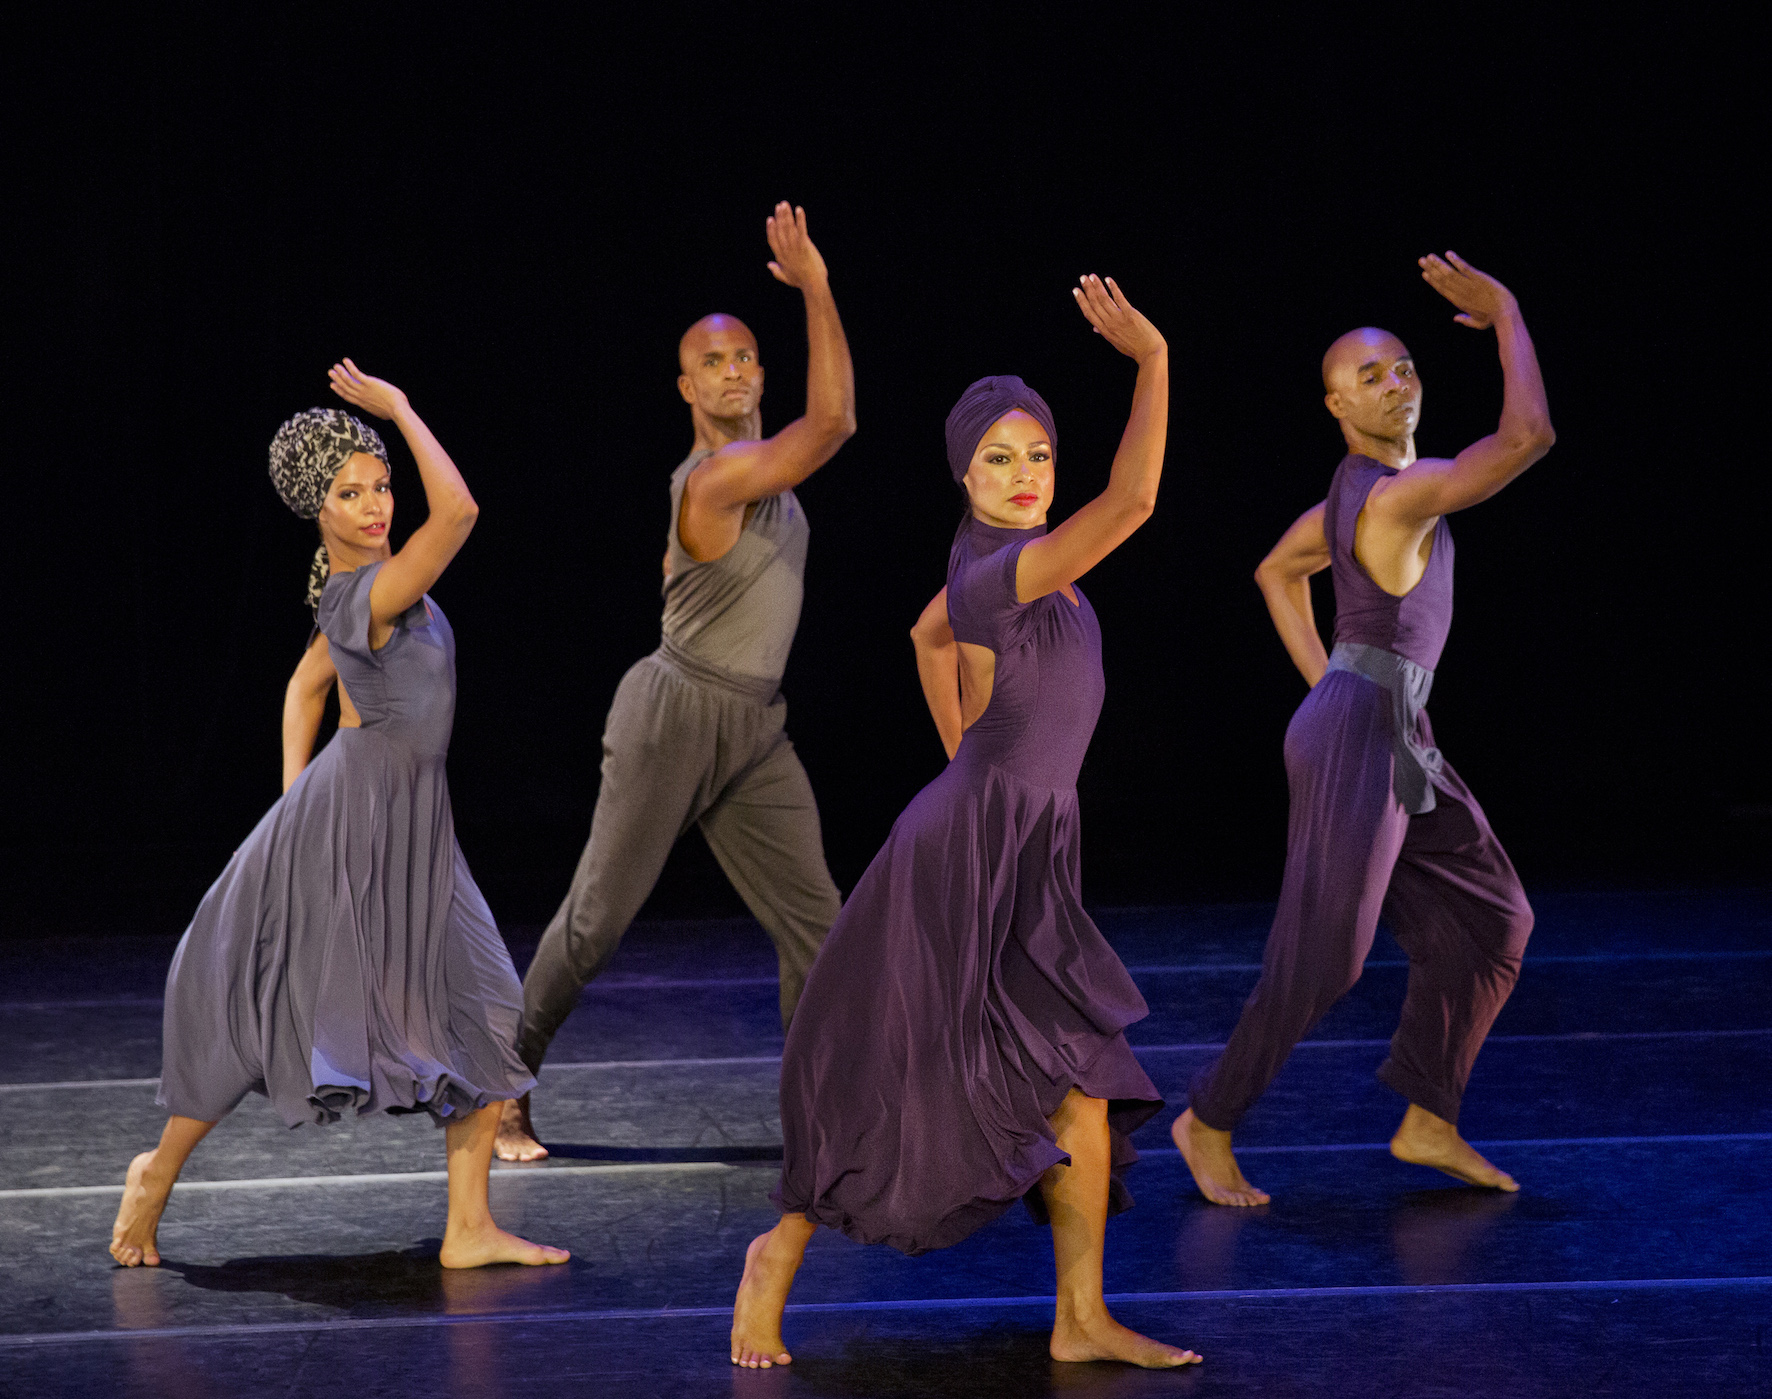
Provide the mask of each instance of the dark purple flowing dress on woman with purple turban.
{"label": "dark purple flowing dress on woman with purple turban", "polygon": [[1035,1186],[1069,1160],[1047,1117],[1072,1087],[1109,1100],[1109,1208],[1127,1208],[1127,1133],[1162,1107],[1123,1034],[1145,999],[1079,896],[1100,627],[1081,590],[1015,600],[1044,533],[960,526],[948,616],[996,653],[991,705],[843,905],[781,1057],[776,1202],[905,1254],[1017,1199],[1044,1220]]}

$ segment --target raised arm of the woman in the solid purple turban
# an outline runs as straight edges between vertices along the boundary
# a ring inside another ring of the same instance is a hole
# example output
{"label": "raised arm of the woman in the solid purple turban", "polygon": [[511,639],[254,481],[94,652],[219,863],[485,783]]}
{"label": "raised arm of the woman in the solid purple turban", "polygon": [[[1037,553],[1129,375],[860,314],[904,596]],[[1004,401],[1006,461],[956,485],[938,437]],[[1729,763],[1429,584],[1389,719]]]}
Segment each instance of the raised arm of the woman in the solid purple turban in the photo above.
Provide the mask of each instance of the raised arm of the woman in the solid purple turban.
{"label": "raised arm of the woman in the solid purple turban", "polygon": [[1095,333],[1138,363],[1132,414],[1108,475],[1108,489],[1021,551],[1015,599],[1033,602],[1083,577],[1123,544],[1157,508],[1162,450],[1170,434],[1170,347],[1108,278],[1084,276],[1072,289]]}

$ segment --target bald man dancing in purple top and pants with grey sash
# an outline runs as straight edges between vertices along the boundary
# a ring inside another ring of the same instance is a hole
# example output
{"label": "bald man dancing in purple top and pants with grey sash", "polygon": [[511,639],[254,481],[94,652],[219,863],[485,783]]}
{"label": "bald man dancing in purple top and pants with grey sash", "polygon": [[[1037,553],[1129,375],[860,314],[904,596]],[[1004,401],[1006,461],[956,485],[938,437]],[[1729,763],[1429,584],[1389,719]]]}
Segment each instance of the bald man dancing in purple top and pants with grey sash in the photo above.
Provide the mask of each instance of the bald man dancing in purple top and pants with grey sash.
{"label": "bald man dancing in purple top and pants with grey sash", "polygon": [[[1217,1063],[1189,1087],[1175,1144],[1216,1204],[1265,1204],[1232,1155],[1232,1130],[1292,1047],[1359,979],[1380,907],[1409,955],[1409,990],[1379,1077],[1409,1100],[1391,1155],[1471,1185],[1519,1190],[1458,1135],[1458,1103],[1519,978],[1533,912],[1483,809],[1434,747],[1425,712],[1451,623],[1446,515],[1494,496],[1556,434],[1538,356],[1512,292],[1457,253],[1421,274],[1494,328],[1496,432],[1455,459],[1416,460],[1421,381],[1389,331],[1363,328],[1324,356],[1324,402],[1348,457],[1329,498],[1262,560],[1256,583],[1311,685],[1286,730],[1292,816],[1262,979]],[[1336,648],[1311,616],[1311,574],[1334,570]]]}

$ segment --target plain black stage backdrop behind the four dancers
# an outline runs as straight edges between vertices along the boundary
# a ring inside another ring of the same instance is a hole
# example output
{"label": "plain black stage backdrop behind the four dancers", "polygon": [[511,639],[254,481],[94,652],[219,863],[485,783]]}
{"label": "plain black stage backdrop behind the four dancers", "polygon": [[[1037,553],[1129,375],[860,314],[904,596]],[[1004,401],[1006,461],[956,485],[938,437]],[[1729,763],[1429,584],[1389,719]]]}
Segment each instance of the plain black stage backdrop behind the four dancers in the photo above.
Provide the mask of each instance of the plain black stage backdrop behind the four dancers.
{"label": "plain black stage backdrop behind the four dancers", "polygon": [[[801,406],[799,298],[764,267],[780,197],[859,388],[859,434],[801,492],[785,682],[840,885],[941,767],[905,632],[959,514],[946,409],[1026,375],[1058,414],[1056,514],[1100,489],[1132,367],[1067,287],[1102,271],[1168,335],[1175,390],[1157,515],[1084,579],[1109,684],[1084,893],[1272,896],[1302,684],[1249,576],[1341,455],[1317,383],[1340,331],[1416,351],[1425,452],[1494,427],[1494,338],[1416,273],[1446,246],[1519,294],[1559,443],[1455,521],[1442,747],[1527,885],[1763,878],[1758,161],[1721,41],[1473,18],[1426,44],[1405,16],[1281,9],[939,46],[909,14],[865,37],[711,11],[649,39],[133,23],[9,60],[9,931],[175,931],[275,799],[314,531],[264,452],[331,402],[340,354],[409,391],[482,503],[434,590],[450,779],[494,910],[546,919],[610,696],[657,639],[679,333],[744,317],[766,430]],[[424,503],[393,448],[399,540]],[[698,836],[652,903],[737,907]]]}

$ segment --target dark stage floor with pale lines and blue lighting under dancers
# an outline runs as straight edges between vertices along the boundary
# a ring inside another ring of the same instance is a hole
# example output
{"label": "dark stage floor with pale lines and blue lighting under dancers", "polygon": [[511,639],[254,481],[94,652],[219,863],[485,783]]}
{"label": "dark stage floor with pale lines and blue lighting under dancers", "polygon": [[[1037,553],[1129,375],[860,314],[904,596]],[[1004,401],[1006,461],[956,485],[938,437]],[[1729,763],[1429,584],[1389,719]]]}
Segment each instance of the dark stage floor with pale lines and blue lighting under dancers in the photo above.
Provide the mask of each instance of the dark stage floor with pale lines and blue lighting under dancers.
{"label": "dark stage floor with pale lines and blue lighting under dancers", "polygon": [[1239,1135],[1274,1195],[1256,1211],[1205,1204],[1166,1130],[1255,981],[1267,910],[1100,916],[1152,1008],[1129,1038],[1171,1098],[1139,1133],[1108,1289],[1129,1325],[1203,1351],[1171,1374],[1045,1356],[1051,1250],[1019,1210],[921,1259],[820,1234],[796,1364],[728,1365],[780,1155],[753,924],[633,933],[542,1073],[555,1158],[493,1178],[500,1220],[572,1263],[468,1275],[436,1264],[427,1119],[289,1132],[259,1098],[191,1160],[165,1264],[112,1266],[122,1167],[161,1121],[170,942],[0,946],[0,1394],[1772,1394],[1772,896],[1536,907],[1462,1123],[1522,1192],[1386,1153],[1402,1105],[1372,1071],[1403,965],[1380,937]]}

